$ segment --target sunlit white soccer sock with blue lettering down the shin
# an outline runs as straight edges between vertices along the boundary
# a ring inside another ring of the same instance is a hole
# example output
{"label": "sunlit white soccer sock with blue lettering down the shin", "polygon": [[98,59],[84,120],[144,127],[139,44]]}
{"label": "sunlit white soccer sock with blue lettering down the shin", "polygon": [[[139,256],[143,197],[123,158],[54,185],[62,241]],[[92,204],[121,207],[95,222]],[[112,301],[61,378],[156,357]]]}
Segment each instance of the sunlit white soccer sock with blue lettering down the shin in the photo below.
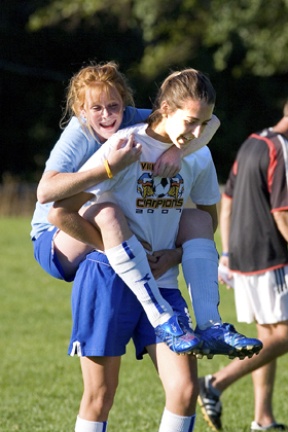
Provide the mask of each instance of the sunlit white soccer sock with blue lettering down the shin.
{"label": "sunlit white soccer sock with blue lettering down the shin", "polygon": [[111,267],[133,291],[153,325],[163,324],[174,314],[170,304],[162,297],[154,279],[146,252],[133,235],[114,248],[105,250]]}

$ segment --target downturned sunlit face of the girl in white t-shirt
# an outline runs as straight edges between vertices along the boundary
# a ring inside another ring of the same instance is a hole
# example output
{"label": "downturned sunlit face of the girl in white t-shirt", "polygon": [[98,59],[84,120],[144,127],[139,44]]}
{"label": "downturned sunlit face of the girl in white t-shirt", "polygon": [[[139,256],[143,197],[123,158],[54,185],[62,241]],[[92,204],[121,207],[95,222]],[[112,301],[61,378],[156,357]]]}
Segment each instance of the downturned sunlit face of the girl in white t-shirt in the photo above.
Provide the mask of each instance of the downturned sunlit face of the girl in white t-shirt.
{"label": "downturned sunlit face of the girl in white t-shirt", "polygon": [[208,105],[204,100],[189,99],[183,104],[183,108],[173,112],[165,105],[165,101],[161,108],[165,116],[158,126],[162,124],[163,136],[176,147],[184,149],[194,138],[200,137],[212,117],[214,105]]}

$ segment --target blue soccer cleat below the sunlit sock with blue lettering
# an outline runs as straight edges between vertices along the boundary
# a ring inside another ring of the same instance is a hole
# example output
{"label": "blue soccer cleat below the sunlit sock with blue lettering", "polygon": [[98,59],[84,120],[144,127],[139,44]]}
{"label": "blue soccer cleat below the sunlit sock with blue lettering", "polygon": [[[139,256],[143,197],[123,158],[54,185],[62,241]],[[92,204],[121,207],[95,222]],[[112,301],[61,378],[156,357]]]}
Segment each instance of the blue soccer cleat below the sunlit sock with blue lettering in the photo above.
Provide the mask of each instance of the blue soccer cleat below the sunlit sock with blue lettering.
{"label": "blue soccer cleat below the sunlit sock with blue lettering", "polygon": [[196,354],[201,340],[193,330],[185,326],[181,317],[173,315],[167,322],[155,328],[156,336],[176,354]]}

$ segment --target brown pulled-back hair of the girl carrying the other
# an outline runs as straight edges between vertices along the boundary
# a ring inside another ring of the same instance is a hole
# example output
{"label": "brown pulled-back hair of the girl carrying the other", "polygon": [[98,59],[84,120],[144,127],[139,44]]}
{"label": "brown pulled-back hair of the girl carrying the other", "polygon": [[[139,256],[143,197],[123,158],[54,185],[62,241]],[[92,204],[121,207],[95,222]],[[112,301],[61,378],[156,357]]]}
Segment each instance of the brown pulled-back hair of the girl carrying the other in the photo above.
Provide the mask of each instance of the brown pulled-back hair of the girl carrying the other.
{"label": "brown pulled-back hair of the girl carrying the other", "polygon": [[184,69],[171,73],[162,83],[156,97],[153,112],[148,123],[157,123],[161,120],[161,104],[166,101],[171,112],[183,109],[188,99],[203,100],[207,105],[214,105],[216,92],[210,79],[196,69]]}

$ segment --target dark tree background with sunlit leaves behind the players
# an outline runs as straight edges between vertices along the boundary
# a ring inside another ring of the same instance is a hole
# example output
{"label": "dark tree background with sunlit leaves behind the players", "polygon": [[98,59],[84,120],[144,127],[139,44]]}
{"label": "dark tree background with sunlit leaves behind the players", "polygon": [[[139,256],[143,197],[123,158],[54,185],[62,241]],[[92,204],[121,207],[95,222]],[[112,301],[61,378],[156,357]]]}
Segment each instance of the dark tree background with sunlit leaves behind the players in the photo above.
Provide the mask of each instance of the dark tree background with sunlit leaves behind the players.
{"label": "dark tree background with sunlit leaves behind the players", "polygon": [[220,182],[238,146],[288,97],[288,0],[2,0],[0,180],[37,183],[59,133],[69,78],[116,60],[139,107],[171,69],[207,72],[222,122]]}

